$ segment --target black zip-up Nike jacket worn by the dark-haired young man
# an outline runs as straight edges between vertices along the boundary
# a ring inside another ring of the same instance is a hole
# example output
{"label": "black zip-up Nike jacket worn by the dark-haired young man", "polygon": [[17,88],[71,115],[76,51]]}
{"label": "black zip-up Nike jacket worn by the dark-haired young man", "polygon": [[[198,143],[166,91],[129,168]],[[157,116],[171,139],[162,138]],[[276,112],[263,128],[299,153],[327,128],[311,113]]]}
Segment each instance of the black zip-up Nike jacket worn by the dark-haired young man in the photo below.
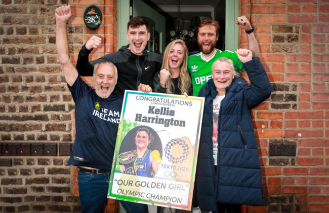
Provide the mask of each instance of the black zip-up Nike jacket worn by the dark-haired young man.
{"label": "black zip-up Nike jacket worn by the dark-haired young man", "polygon": [[76,69],[80,76],[93,76],[94,64],[107,60],[115,64],[118,71],[117,84],[113,94],[124,97],[125,90],[137,90],[138,85],[148,84],[152,86],[154,74],[161,69],[162,55],[148,52],[144,49],[142,55],[135,55],[129,49],[129,45],[122,46],[119,51],[109,53],[97,60],[89,62],[89,54],[92,50],[81,48],[76,62]]}

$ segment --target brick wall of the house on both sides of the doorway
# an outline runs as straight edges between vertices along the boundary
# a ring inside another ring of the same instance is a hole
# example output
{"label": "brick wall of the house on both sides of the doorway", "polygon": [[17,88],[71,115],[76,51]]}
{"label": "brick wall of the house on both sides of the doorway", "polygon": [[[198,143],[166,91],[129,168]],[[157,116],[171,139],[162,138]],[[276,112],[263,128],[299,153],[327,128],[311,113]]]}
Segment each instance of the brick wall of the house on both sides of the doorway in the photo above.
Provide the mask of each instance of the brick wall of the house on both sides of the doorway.
{"label": "brick wall of the house on both sides of the doorway", "polygon": [[[116,1],[0,3],[0,212],[78,212],[76,170],[67,164],[74,103],[57,61],[54,10],[73,5],[68,29],[75,62],[92,34],[104,44],[91,59],[116,51]],[[82,18],[92,4],[104,15],[97,30],[87,29]],[[243,210],[327,212],[329,1],[240,0],[239,7],[254,23],[273,87],[252,112],[266,206]]]}

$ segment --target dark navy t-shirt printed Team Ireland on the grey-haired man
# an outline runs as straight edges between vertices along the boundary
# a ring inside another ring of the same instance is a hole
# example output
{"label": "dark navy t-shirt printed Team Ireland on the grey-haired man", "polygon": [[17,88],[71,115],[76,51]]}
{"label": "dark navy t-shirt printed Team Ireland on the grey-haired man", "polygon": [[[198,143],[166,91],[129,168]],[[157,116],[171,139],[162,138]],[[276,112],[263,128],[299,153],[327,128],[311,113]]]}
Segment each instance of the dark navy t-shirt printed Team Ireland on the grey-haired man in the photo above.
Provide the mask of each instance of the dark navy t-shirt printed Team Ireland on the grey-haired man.
{"label": "dark navy t-shirt printed Team Ireland on the grey-haired man", "polygon": [[101,98],[81,78],[68,88],[75,102],[75,141],[69,164],[111,169],[122,98]]}

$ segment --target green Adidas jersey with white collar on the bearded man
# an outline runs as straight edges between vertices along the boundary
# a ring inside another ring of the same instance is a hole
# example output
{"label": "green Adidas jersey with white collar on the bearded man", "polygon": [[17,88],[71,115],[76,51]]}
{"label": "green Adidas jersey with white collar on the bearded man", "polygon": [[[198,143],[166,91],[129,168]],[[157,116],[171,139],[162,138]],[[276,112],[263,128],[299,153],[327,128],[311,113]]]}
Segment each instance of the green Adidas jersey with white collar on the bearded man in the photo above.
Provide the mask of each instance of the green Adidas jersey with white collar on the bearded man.
{"label": "green Adidas jersey with white collar on the bearded man", "polygon": [[229,50],[216,50],[207,58],[204,57],[201,52],[188,56],[187,68],[192,78],[193,96],[197,96],[203,85],[212,78],[212,65],[220,57],[231,59],[236,70],[244,70],[242,62],[238,59],[236,52]]}

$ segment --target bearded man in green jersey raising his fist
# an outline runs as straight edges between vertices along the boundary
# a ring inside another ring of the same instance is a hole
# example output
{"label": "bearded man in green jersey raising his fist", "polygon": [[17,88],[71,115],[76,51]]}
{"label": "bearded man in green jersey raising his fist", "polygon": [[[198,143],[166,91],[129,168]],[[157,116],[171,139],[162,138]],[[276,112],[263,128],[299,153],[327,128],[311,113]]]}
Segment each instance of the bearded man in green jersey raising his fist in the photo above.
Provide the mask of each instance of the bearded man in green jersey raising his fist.
{"label": "bearded man in green jersey raising his fist", "polygon": [[[247,33],[249,49],[253,52],[253,57],[259,57],[260,51],[253,32],[254,27],[244,16],[236,18],[235,23]],[[216,59],[227,57],[233,61],[235,69],[244,70],[236,52],[230,50],[221,51],[215,48],[218,40],[218,32],[219,23],[213,19],[205,19],[198,26],[197,43],[201,52],[190,55],[187,65],[188,72],[192,78],[193,96],[197,96],[202,86],[212,78],[211,67]]]}

